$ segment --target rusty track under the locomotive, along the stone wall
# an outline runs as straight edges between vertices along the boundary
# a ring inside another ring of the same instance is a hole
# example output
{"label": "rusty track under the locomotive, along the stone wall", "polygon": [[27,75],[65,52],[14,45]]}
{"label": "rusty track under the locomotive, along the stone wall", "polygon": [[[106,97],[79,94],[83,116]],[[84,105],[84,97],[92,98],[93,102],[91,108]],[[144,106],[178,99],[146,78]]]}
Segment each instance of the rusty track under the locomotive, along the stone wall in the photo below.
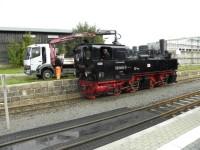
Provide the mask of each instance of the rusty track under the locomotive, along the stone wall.
{"label": "rusty track under the locomotive, along the stone wall", "polygon": [[[194,76],[190,78],[179,78],[177,81],[177,84],[183,84],[187,82],[192,82],[199,80],[199,76]],[[172,85],[166,85],[166,86],[172,86]],[[76,93],[74,93],[76,94]],[[10,114],[18,114],[18,113],[26,113],[31,112],[35,110],[42,110],[47,108],[53,108],[63,105],[70,105],[75,103],[80,103],[81,97],[76,96],[75,98],[65,100],[65,99],[59,99],[59,100],[52,100],[52,101],[43,101],[43,102],[37,102],[37,103],[20,103],[19,105],[10,105],[9,106],[9,112]],[[4,115],[4,107],[3,104],[0,104],[0,116]]]}

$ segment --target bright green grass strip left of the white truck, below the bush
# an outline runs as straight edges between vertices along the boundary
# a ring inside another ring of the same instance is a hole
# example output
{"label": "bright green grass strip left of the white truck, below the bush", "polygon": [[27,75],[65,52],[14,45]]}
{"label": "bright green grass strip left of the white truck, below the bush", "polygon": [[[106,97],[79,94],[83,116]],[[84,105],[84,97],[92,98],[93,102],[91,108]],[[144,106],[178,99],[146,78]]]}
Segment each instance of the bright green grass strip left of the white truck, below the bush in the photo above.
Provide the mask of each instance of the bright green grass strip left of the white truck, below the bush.
{"label": "bright green grass strip left of the white truck, below the bush", "polygon": [[0,74],[18,74],[23,72],[24,72],[23,67],[0,68]]}

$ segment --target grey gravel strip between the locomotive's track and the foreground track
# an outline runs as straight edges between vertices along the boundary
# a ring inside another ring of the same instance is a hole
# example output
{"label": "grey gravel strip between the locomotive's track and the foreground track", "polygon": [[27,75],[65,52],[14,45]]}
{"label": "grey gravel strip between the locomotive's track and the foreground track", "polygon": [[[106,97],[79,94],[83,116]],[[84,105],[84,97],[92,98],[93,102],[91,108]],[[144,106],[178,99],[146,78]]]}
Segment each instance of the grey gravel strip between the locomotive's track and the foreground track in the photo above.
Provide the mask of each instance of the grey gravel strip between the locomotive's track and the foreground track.
{"label": "grey gravel strip between the locomotive's track and the foreground track", "polygon": [[174,84],[162,88],[138,91],[121,96],[102,97],[96,100],[83,99],[81,103],[59,108],[37,111],[23,115],[11,116],[11,129],[6,129],[5,118],[0,117],[0,135],[57,122],[81,118],[122,107],[140,107],[161,99],[170,98],[182,93],[200,90],[200,80]]}

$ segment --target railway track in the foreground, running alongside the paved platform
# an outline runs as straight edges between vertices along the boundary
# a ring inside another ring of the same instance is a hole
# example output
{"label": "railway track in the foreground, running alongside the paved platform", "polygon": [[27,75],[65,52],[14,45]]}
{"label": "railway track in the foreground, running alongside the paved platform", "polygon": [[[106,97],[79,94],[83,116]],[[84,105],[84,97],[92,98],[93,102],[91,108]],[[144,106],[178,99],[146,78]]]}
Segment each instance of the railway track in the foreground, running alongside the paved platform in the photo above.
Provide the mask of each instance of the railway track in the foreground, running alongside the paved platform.
{"label": "railway track in the foreground, running alongside the paved platform", "polygon": [[[62,135],[67,138],[69,137],[69,134],[75,132],[79,134],[70,140],[60,140],[57,143],[55,143],[55,141],[53,142],[53,140],[50,140],[48,141],[49,144],[45,143],[46,147],[41,147],[42,149],[79,149],[84,145],[91,146],[91,143],[93,143],[94,146],[91,147],[91,149],[93,149],[97,147],[97,143],[102,143],[99,142],[99,140],[105,140],[108,137],[116,134],[120,135],[129,130],[143,130],[149,127],[148,125],[150,124],[157,124],[194,107],[198,107],[199,105],[200,90],[171,99],[165,99],[139,109],[123,108],[109,113],[102,113],[100,115],[86,117],[82,120],[65,122],[62,123],[62,125],[55,124],[23,131],[21,133],[5,135],[0,137],[0,149],[12,147],[13,150],[17,150],[17,148],[20,148],[20,144],[24,146],[24,144],[26,145],[26,143],[29,143],[30,146],[30,141],[38,142],[40,140],[44,141],[44,139],[55,139],[55,137],[58,137],[58,135]],[[117,125],[117,123],[119,123],[119,125]],[[97,130],[98,128],[101,129]],[[90,130],[92,131],[89,132]],[[83,131],[87,133],[84,134],[84,136],[80,134]],[[105,142],[108,141],[109,140]],[[44,143],[42,145],[44,145]],[[41,147],[37,147],[36,149],[40,149]]]}

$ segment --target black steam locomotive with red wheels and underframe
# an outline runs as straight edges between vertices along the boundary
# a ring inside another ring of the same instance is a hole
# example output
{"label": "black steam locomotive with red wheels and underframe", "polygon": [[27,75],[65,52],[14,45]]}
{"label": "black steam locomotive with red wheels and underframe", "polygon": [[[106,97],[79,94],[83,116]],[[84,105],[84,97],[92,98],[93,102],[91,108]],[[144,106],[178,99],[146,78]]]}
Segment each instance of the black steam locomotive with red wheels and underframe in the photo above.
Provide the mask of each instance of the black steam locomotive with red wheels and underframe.
{"label": "black steam locomotive with red wheels and underframe", "polygon": [[135,51],[116,39],[113,44],[86,43],[74,50],[76,76],[84,96],[94,99],[176,82],[177,59],[165,50],[165,40],[160,40],[160,50]]}

